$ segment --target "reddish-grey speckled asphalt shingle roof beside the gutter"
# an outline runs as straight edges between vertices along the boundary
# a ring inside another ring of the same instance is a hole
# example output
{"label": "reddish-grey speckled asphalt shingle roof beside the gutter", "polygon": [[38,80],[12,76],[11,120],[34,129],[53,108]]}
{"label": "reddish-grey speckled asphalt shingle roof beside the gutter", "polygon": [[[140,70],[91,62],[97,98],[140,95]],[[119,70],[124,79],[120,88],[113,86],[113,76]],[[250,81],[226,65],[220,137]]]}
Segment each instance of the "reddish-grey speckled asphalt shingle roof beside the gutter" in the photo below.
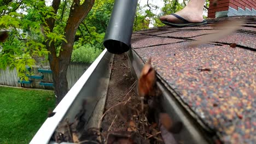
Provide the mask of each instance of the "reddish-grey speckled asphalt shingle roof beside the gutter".
{"label": "reddish-grey speckled asphalt shingle roof beside the gutter", "polygon": [[159,76],[227,143],[256,143],[256,17],[252,18],[228,37],[196,47],[187,45],[216,31],[212,23],[240,17],[132,35],[131,46],[139,57],[152,57]]}

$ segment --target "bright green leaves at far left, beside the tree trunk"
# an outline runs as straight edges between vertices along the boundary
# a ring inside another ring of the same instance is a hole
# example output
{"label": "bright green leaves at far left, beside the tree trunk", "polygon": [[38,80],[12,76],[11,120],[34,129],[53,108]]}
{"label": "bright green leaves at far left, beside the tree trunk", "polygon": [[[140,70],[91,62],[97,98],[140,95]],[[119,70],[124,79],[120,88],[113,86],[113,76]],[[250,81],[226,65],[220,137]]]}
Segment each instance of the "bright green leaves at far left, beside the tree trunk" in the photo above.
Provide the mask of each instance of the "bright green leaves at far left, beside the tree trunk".
{"label": "bright green leaves at far left, beside the tree trunk", "polygon": [[16,67],[19,77],[27,80],[25,66],[34,64],[33,57],[42,57],[49,52],[42,44],[43,39],[34,37],[40,33],[38,22],[27,20],[26,15],[22,14],[25,5],[29,7],[30,1],[8,1],[4,4],[0,7],[0,28],[9,31],[9,38],[1,44],[0,68],[5,69],[8,65],[10,68]]}

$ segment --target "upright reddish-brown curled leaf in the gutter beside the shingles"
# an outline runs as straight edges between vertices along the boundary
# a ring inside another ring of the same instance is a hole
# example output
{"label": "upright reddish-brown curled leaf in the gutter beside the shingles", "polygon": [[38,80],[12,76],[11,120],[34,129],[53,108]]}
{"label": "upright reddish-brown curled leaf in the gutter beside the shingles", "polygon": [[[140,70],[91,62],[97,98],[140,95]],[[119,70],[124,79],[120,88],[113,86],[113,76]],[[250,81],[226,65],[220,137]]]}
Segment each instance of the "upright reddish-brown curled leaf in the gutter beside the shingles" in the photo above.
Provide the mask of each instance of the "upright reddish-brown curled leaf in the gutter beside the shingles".
{"label": "upright reddish-brown curled leaf in the gutter beside the shingles", "polygon": [[141,76],[138,80],[138,92],[140,97],[147,97],[152,91],[156,82],[156,72],[151,65],[151,58],[141,70]]}

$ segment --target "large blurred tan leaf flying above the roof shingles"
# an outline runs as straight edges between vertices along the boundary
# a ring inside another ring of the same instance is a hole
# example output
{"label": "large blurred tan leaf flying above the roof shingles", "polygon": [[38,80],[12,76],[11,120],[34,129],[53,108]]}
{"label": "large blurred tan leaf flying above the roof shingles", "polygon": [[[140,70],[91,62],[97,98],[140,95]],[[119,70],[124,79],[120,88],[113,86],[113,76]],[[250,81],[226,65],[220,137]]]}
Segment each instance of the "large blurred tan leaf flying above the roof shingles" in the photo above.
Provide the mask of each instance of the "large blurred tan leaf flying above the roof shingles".
{"label": "large blurred tan leaf flying above the roof shingles", "polygon": [[205,35],[202,39],[196,40],[191,42],[188,46],[197,46],[200,44],[206,44],[209,42],[213,42],[219,39],[222,39],[229,34],[235,32],[237,29],[239,29],[243,24],[245,23],[245,20],[240,19],[239,21],[226,21],[221,22],[216,25],[216,29],[219,29],[216,33],[210,33]]}

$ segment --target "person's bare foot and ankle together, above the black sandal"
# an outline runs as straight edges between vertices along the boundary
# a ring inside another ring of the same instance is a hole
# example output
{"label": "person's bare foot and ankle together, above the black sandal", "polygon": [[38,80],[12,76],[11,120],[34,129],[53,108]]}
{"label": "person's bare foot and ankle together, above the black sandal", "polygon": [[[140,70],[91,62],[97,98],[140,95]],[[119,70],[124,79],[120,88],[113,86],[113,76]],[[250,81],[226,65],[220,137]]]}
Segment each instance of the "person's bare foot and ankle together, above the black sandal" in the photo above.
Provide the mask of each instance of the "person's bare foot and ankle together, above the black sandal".
{"label": "person's bare foot and ankle together, above the black sandal", "polygon": [[[185,20],[189,22],[201,22],[203,20],[203,5],[205,4],[205,0],[190,0],[185,8],[181,11],[178,11],[177,15],[183,17]],[[159,18],[161,21],[168,22],[183,22],[182,20],[177,19],[177,17],[173,15],[165,15]]]}

